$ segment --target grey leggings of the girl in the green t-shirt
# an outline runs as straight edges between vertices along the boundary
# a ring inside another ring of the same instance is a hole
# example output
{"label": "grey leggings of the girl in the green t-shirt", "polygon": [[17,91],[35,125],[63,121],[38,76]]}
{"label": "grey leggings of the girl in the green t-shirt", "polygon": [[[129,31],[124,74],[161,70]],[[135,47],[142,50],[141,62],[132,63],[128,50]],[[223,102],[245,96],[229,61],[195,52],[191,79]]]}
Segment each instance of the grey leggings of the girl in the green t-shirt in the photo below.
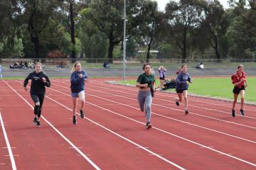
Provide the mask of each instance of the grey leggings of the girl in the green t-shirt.
{"label": "grey leggings of the girl in the green t-shirt", "polygon": [[145,110],[146,107],[146,120],[150,122],[151,120],[151,103],[152,97],[150,91],[139,91],[138,92],[138,102],[141,111]]}

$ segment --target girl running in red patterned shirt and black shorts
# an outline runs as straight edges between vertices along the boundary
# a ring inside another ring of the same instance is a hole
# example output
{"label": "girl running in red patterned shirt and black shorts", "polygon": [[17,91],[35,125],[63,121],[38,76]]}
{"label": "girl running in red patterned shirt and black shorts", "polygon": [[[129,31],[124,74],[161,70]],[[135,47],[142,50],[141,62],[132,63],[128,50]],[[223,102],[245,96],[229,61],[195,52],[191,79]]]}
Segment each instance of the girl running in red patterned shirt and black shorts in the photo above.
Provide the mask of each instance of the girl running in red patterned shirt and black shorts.
{"label": "girl running in red patterned shirt and black shorts", "polygon": [[234,101],[232,106],[232,116],[235,117],[235,103],[238,101],[239,94],[241,97],[240,113],[241,115],[245,115],[243,111],[243,106],[245,102],[245,88],[248,86],[248,84],[246,81],[244,66],[242,64],[238,65],[238,70],[235,74],[232,75],[231,79],[232,79],[232,83],[234,84],[234,89],[233,89]]}

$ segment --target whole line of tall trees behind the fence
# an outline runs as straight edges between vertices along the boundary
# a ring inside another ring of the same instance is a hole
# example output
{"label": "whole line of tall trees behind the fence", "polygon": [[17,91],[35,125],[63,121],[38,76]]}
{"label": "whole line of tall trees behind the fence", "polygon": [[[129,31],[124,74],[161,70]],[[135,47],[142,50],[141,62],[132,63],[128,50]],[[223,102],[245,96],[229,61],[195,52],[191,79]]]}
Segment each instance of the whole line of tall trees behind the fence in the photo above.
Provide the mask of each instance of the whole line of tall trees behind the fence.
{"label": "whole line of tall trees behind the fence", "polygon": [[[228,3],[126,0],[127,57],[256,61],[256,0]],[[122,57],[123,0],[0,0],[0,20],[0,58]]]}

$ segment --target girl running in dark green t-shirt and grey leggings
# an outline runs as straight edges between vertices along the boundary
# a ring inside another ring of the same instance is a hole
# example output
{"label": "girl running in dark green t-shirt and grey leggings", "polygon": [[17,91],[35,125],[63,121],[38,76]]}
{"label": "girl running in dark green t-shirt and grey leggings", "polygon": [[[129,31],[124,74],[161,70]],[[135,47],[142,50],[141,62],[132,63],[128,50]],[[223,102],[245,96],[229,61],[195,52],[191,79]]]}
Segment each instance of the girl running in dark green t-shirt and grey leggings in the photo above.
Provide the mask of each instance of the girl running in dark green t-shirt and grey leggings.
{"label": "girl running in dark green t-shirt and grey leggings", "polygon": [[150,64],[144,64],[142,69],[144,70],[144,73],[139,75],[136,84],[136,86],[139,87],[137,99],[139,102],[140,110],[142,112],[146,110],[146,129],[149,129],[152,128],[152,125],[150,123],[151,103],[155,91],[155,78],[154,75],[151,74]]}

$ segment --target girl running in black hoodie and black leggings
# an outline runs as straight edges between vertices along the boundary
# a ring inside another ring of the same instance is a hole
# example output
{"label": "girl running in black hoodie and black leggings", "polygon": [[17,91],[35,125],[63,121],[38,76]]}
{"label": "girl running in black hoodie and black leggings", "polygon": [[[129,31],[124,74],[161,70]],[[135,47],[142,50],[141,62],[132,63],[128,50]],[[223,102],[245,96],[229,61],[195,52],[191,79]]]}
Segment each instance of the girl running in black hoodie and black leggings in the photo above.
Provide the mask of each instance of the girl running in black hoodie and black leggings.
{"label": "girl running in black hoodie and black leggings", "polygon": [[33,123],[35,123],[38,127],[41,127],[40,117],[41,111],[43,106],[43,99],[46,95],[46,87],[50,87],[50,80],[48,76],[42,71],[42,64],[37,62],[35,65],[35,72],[31,72],[28,74],[24,81],[24,89],[28,91],[28,80],[31,79],[31,89],[30,94],[33,102],[35,103],[34,106],[34,114],[35,118],[33,119]]}

